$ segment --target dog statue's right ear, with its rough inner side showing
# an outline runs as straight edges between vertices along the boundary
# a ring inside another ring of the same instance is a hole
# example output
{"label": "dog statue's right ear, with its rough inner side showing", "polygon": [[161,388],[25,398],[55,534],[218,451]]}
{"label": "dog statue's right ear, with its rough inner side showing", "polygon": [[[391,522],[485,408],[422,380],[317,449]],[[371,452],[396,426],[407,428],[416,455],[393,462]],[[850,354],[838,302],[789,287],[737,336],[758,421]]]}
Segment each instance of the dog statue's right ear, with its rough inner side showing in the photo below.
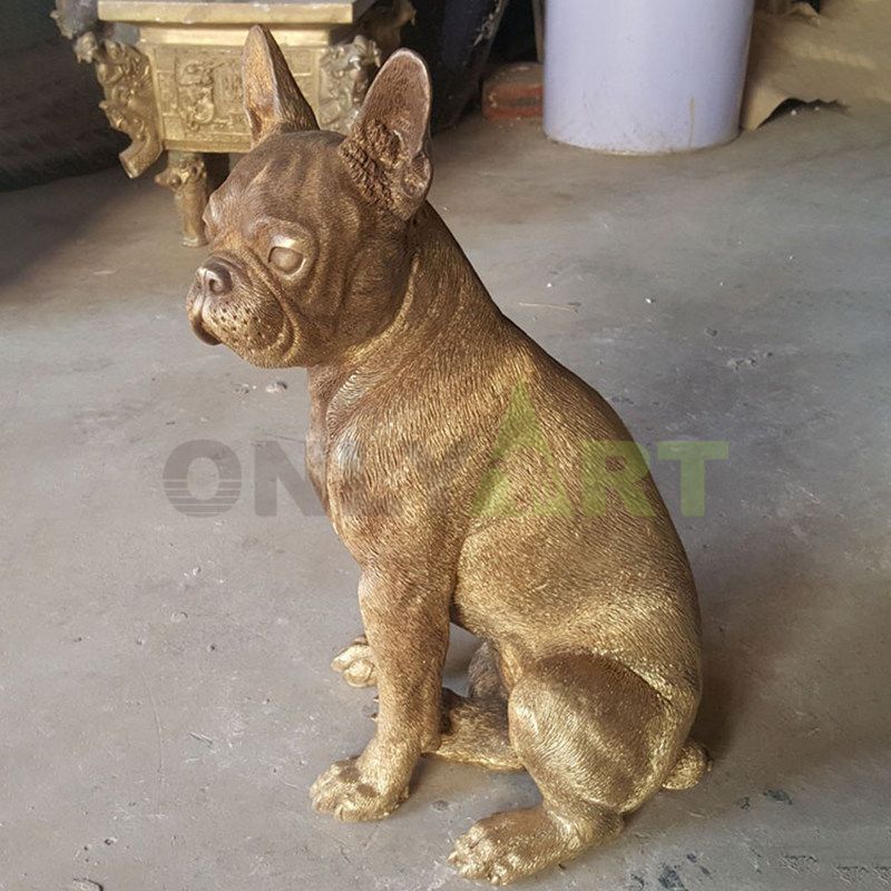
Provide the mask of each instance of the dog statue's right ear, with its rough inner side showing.
{"label": "dog statue's right ear, with its rough inner side showing", "polygon": [[365,197],[409,219],[430,188],[430,75],[396,50],[369,88],[341,155]]}

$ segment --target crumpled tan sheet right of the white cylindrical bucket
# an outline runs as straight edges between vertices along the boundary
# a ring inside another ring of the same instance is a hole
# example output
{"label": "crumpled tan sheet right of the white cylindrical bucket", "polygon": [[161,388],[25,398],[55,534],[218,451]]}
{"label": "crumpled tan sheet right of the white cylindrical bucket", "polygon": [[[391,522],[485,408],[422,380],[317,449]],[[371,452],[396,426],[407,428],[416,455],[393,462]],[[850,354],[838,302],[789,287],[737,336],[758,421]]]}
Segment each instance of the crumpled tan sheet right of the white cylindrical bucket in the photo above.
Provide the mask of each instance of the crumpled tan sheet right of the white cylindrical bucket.
{"label": "crumpled tan sheet right of the white cylindrical bucket", "polygon": [[754,129],[786,99],[856,111],[891,106],[891,0],[762,0],[755,12],[742,125]]}

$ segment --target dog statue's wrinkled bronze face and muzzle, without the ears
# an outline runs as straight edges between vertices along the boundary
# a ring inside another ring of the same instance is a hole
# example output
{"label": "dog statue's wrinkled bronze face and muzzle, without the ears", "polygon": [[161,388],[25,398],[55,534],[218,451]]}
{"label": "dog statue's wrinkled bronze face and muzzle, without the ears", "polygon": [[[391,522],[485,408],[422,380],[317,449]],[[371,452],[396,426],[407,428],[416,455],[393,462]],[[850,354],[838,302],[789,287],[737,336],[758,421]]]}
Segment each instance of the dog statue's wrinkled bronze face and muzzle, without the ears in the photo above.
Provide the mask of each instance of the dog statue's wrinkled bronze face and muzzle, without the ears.
{"label": "dog statue's wrinkled bronze face and muzzle, without the ears", "polygon": [[213,254],[189,297],[199,336],[255,365],[313,365],[392,320],[403,227],[365,206],[340,141],[271,136],[210,197]]}

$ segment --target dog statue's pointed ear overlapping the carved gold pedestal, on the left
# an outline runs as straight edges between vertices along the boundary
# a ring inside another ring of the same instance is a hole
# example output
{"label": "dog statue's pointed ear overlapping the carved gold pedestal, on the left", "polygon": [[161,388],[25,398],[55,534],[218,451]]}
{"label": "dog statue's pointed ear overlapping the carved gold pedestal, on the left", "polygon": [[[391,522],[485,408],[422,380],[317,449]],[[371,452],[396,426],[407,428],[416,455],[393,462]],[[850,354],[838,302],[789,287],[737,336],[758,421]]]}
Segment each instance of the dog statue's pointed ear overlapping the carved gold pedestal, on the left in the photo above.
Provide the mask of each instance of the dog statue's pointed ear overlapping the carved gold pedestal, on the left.
{"label": "dog statue's pointed ear overlapping the carved gold pedestal, on the left", "polygon": [[262,25],[255,25],[244,41],[242,85],[252,146],[275,133],[319,129],[282,50]]}

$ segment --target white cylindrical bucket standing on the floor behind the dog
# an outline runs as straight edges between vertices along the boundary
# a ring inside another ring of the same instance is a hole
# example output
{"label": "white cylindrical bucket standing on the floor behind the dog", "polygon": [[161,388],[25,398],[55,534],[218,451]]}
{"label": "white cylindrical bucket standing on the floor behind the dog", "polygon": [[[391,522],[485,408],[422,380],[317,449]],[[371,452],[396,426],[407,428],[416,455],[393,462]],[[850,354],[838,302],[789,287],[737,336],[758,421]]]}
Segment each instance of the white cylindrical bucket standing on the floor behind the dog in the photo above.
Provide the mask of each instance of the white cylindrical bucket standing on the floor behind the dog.
{"label": "white cylindrical bucket standing on the floor behind the dog", "polygon": [[548,0],[545,133],[631,155],[740,129],[754,0]]}

